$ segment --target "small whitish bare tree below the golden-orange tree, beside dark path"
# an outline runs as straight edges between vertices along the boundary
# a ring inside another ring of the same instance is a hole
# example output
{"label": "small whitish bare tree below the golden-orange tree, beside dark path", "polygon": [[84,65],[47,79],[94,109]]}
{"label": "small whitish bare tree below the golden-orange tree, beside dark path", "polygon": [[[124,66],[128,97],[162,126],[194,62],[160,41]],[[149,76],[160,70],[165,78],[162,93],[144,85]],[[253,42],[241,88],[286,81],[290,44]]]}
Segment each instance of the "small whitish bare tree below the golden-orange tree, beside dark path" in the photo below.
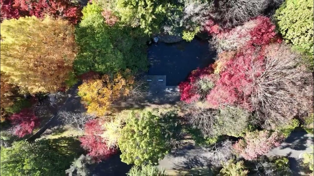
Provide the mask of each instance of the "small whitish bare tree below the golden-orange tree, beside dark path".
{"label": "small whitish bare tree below the golden-orange tree, beside dark path", "polygon": [[95,116],[85,113],[73,113],[66,111],[60,111],[58,116],[64,124],[72,125],[79,130],[84,130],[85,123],[95,118]]}

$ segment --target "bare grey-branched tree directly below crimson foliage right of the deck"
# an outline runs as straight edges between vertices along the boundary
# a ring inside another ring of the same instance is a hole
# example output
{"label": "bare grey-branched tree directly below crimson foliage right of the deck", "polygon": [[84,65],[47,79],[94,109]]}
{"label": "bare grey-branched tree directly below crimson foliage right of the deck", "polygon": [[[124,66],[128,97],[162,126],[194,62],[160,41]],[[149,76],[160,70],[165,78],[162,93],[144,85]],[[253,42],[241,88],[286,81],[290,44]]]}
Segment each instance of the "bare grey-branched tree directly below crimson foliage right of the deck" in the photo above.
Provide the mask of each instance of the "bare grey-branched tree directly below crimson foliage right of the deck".
{"label": "bare grey-branched tree directly below crimson foliage right of the deck", "polygon": [[218,110],[206,108],[205,106],[186,105],[188,106],[188,112],[185,114],[185,118],[190,123],[201,130],[204,136],[214,136],[214,126],[218,125],[216,115]]}

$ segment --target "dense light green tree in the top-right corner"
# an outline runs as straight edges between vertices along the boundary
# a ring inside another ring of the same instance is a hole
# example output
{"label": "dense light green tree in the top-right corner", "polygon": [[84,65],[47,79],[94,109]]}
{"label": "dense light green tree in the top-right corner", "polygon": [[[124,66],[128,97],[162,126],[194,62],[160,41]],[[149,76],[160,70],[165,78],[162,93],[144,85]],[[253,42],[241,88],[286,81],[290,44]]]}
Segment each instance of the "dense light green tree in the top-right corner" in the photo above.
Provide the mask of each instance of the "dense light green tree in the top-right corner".
{"label": "dense light green tree in the top-right corner", "polygon": [[304,53],[313,68],[314,3],[311,0],[286,0],[276,11],[279,31],[287,42]]}

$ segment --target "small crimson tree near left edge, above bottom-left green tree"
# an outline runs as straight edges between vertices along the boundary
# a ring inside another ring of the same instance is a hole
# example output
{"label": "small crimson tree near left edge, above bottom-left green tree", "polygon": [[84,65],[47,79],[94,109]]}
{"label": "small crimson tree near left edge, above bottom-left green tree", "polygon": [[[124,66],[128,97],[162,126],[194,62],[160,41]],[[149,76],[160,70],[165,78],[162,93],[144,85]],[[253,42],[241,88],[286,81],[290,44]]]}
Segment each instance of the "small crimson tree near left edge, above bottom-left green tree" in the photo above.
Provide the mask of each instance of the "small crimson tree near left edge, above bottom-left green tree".
{"label": "small crimson tree near left edge, above bottom-left green tree", "polygon": [[39,119],[30,109],[23,109],[19,113],[14,113],[8,120],[13,125],[13,134],[19,137],[32,133],[33,129],[40,124]]}

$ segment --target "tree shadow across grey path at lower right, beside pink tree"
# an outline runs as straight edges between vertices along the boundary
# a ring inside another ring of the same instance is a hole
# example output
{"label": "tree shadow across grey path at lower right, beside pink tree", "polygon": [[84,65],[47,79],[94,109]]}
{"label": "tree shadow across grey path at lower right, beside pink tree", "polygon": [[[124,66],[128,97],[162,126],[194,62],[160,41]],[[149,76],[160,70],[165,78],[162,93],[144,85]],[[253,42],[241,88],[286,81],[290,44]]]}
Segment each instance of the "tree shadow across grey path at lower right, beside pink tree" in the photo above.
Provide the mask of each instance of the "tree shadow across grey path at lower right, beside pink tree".
{"label": "tree shadow across grey path at lower right, beside pink tree", "polygon": [[[285,140],[285,144],[281,145],[280,149],[290,148],[293,150],[306,150],[306,143],[313,137],[306,136],[306,131],[292,132],[291,135]],[[313,142],[311,143],[313,144]]]}

